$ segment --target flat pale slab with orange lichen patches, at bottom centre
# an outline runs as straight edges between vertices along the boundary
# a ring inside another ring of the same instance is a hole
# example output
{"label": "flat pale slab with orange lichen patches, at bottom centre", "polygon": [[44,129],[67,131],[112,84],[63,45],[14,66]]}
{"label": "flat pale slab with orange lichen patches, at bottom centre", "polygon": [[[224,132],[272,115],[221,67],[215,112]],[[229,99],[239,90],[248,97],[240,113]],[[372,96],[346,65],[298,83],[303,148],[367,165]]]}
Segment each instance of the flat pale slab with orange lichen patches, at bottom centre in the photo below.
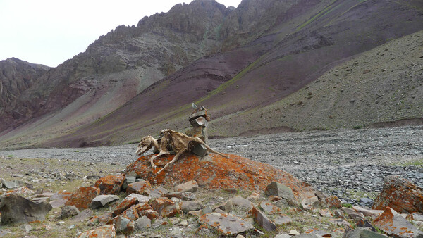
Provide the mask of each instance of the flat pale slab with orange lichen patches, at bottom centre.
{"label": "flat pale slab with orange lichen patches, at bottom centre", "polygon": [[206,213],[202,215],[198,221],[208,227],[216,229],[223,235],[233,235],[255,229],[255,227],[247,221],[235,215],[225,213]]}

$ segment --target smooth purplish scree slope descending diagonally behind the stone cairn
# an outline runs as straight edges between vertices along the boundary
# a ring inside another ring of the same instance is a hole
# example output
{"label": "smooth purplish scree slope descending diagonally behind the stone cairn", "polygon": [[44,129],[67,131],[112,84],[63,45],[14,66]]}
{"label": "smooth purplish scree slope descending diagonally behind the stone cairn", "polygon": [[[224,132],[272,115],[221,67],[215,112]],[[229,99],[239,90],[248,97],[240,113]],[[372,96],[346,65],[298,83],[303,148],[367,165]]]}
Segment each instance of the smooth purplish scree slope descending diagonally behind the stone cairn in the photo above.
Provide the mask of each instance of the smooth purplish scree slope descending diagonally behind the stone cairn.
{"label": "smooth purplish scree slope descending diagonally behind the stone cairn", "polygon": [[[70,146],[78,146],[80,142],[114,144],[136,140],[140,132],[157,134],[164,127],[183,130],[188,126],[185,116],[190,111],[191,101],[207,106],[212,117],[225,118],[216,120],[219,125],[212,123],[212,135],[234,136],[253,130],[255,125],[266,128],[268,125],[252,123],[247,114],[239,112],[279,101],[350,56],[422,29],[422,11],[407,6],[405,2],[334,1],[322,5],[316,5],[321,7],[319,11],[310,8],[297,17],[288,14],[294,17],[285,16],[283,23],[268,28],[267,35],[223,53],[228,57],[249,50],[261,52],[260,57],[250,61],[250,65],[242,68],[231,80],[223,78],[226,82],[219,87],[217,84],[210,87],[211,80],[192,64],[173,75],[175,77],[152,85],[106,118],[75,132],[72,139],[67,136],[48,143],[68,143]],[[304,20],[307,14],[309,18]],[[292,32],[286,35],[289,30]],[[220,63],[221,67],[213,67],[224,69],[227,62],[218,60],[219,56],[209,56],[201,61],[224,62]],[[210,62],[204,64],[212,65]],[[189,85],[193,84],[195,87],[190,88]],[[210,88],[215,89],[207,93]],[[304,129],[294,125],[284,125],[283,128],[286,127]]]}

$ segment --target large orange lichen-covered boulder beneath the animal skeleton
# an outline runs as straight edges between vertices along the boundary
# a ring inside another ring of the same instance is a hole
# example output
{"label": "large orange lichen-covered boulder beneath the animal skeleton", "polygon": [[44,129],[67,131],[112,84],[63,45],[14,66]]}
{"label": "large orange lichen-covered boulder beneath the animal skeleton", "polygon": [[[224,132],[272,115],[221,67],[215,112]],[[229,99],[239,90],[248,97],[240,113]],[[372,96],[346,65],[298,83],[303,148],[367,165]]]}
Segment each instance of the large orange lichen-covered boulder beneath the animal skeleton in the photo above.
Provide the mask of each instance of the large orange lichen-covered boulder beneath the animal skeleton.
{"label": "large orange lichen-covered boulder beneath the animal skeleton", "polygon": [[149,164],[151,156],[153,155],[138,158],[128,165],[126,173],[134,171],[137,177],[142,177],[153,185],[175,185],[195,180],[200,187],[207,189],[234,188],[263,191],[270,182],[276,181],[290,187],[296,197],[314,196],[312,187],[293,175],[269,164],[233,154],[228,154],[229,158],[217,154],[210,154],[204,158],[194,154],[183,154],[176,163],[159,175],[156,175],[156,172],[174,156],[156,158],[155,163],[158,166],[156,170]]}

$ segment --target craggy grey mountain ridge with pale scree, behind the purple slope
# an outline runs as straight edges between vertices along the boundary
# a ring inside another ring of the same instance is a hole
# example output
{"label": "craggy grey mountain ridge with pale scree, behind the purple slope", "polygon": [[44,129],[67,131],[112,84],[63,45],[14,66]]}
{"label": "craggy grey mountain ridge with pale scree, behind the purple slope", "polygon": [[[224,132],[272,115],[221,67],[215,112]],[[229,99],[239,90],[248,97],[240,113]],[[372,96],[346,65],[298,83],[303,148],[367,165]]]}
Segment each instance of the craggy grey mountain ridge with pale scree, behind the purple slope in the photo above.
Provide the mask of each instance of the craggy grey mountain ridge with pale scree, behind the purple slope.
{"label": "craggy grey mountain ridge with pale scree, behind the purple slope", "polygon": [[66,106],[66,115],[51,124],[71,129],[110,113],[157,80],[219,51],[212,29],[230,12],[216,1],[197,0],[142,18],[137,27],[116,27],[14,98],[14,111],[25,116],[0,115],[6,122],[0,133]]}

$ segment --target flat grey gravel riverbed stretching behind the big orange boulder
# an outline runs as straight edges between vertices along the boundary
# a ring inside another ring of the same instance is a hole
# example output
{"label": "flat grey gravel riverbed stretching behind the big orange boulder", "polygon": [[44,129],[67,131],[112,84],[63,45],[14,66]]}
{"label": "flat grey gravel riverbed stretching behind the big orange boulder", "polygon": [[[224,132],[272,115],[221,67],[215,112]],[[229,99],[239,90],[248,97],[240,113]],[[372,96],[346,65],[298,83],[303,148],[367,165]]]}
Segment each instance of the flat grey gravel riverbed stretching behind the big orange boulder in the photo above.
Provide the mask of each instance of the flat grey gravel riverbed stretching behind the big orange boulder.
{"label": "flat grey gravel riverbed stretching behind the big orange boulder", "polygon": [[[423,125],[210,139],[210,146],[269,163],[361,206],[371,206],[387,175],[401,175],[423,187]],[[22,149],[0,151],[0,156],[128,165],[137,158],[136,147]]]}

